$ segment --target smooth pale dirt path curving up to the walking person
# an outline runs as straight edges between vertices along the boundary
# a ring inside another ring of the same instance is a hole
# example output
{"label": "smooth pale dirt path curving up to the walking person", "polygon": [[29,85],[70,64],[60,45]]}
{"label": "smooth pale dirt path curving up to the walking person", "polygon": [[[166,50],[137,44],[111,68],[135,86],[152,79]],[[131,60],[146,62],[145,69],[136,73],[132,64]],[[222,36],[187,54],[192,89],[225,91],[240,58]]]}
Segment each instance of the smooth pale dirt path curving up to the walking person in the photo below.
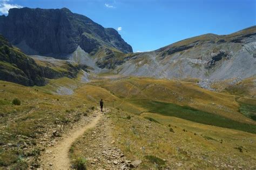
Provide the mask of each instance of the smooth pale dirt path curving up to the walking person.
{"label": "smooth pale dirt path curving up to the walking person", "polygon": [[[106,112],[109,112],[109,110],[105,110]],[[84,123],[79,123],[77,127],[62,135],[63,140],[60,140],[54,147],[46,149],[42,156],[42,168],[69,169],[71,166],[69,149],[72,143],[83,135],[86,130],[95,127],[102,115],[99,110],[94,111],[92,118],[89,118],[91,120],[88,124],[85,121]]]}

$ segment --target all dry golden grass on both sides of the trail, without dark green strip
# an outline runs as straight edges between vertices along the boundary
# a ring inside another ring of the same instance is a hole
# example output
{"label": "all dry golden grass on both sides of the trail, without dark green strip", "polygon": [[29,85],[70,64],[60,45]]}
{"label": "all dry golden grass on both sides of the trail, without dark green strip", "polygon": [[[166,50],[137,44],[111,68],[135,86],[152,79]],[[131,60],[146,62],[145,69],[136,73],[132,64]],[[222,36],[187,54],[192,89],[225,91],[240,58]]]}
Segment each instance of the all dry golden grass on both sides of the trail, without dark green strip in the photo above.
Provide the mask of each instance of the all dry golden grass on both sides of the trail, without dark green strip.
{"label": "all dry golden grass on both sides of the trail, without dark green strip", "polygon": [[[77,113],[97,106],[98,101],[104,99],[105,106],[113,110],[109,120],[113,123],[111,133],[118,139],[118,147],[122,148],[127,159],[143,160],[142,168],[155,166],[146,159],[154,157],[165,159],[165,166],[171,168],[216,168],[214,162],[219,162],[220,168],[226,168],[225,164],[244,168],[256,166],[253,154],[256,152],[255,134],[146,113],[144,107],[131,102],[134,99],[147,99],[190,106],[240,123],[255,124],[255,121],[238,112],[240,103],[255,104],[253,98],[207,91],[192,80],[187,82],[104,75],[103,78],[83,84],[79,80],[81,76],[79,74],[77,79],[53,79],[43,87],[25,87],[0,81],[1,145],[18,144],[16,135],[19,134],[36,141],[46,128],[56,126],[56,120],[65,125],[74,121]],[[74,93],[69,96],[57,95],[56,90],[60,86],[70,88]],[[14,98],[21,100],[20,106],[11,104]],[[131,119],[127,119],[128,115]],[[152,118],[160,124],[144,117]],[[174,133],[170,132],[169,124]],[[235,149],[241,147],[242,153]],[[24,154],[9,151],[7,147],[0,149],[0,159],[6,162],[6,165],[1,163],[2,166],[17,165]],[[7,158],[10,160],[6,161]],[[179,166],[179,163],[182,165]]]}

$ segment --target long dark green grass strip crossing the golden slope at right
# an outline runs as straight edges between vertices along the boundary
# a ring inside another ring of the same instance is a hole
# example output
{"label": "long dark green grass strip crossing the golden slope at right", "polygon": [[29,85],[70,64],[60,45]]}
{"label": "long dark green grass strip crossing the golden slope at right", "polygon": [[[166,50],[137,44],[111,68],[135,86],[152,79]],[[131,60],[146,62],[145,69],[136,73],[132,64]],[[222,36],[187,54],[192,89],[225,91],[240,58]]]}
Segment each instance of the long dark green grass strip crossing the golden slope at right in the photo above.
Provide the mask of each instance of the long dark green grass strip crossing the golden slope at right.
{"label": "long dark green grass strip crossing the golden slope at right", "polygon": [[[179,106],[176,104],[150,100],[133,100],[132,103],[145,108],[145,110],[148,110],[147,112],[159,113],[162,115],[190,120],[205,125],[232,128],[234,130],[240,130],[256,134],[256,125],[242,124],[237,121],[221,117],[216,114],[200,111],[189,106]],[[247,113],[246,106],[248,107],[248,105],[242,107],[242,111],[244,111],[245,113]],[[255,106],[250,106],[251,107],[249,107],[248,109],[255,109]]]}

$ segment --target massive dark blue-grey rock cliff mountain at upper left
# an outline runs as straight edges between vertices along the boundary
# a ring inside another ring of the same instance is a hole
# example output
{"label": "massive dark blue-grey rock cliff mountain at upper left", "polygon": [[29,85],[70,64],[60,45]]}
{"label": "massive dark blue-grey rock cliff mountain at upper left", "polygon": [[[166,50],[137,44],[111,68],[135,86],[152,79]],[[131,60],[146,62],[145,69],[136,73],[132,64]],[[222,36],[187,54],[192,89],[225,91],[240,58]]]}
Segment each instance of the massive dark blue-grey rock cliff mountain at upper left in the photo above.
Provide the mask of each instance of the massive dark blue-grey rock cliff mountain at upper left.
{"label": "massive dark blue-grey rock cliff mountain at upper left", "polygon": [[0,33],[27,55],[65,58],[78,46],[87,53],[99,47],[132,52],[119,33],[69,9],[10,9],[0,16]]}

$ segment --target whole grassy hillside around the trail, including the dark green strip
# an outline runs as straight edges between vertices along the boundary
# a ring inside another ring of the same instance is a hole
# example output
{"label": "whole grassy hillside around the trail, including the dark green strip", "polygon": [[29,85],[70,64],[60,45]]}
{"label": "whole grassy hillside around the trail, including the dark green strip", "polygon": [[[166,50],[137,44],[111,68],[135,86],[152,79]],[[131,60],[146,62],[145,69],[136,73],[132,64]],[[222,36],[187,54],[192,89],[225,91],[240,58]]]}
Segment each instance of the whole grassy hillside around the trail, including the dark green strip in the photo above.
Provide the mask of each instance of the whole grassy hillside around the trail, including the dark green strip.
{"label": "whole grassy hillside around the trail, including the dark green strip", "polygon": [[[84,84],[82,77],[34,87],[0,81],[0,167],[39,167],[39,155],[100,99],[111,109],[104,122],[114,147],[126,159],[142,160],[139,168],[256,166],[253,98],[207,91],[193,81],[105,75]],[[72,159],[89,160],[90,138],[74,144]]]}

